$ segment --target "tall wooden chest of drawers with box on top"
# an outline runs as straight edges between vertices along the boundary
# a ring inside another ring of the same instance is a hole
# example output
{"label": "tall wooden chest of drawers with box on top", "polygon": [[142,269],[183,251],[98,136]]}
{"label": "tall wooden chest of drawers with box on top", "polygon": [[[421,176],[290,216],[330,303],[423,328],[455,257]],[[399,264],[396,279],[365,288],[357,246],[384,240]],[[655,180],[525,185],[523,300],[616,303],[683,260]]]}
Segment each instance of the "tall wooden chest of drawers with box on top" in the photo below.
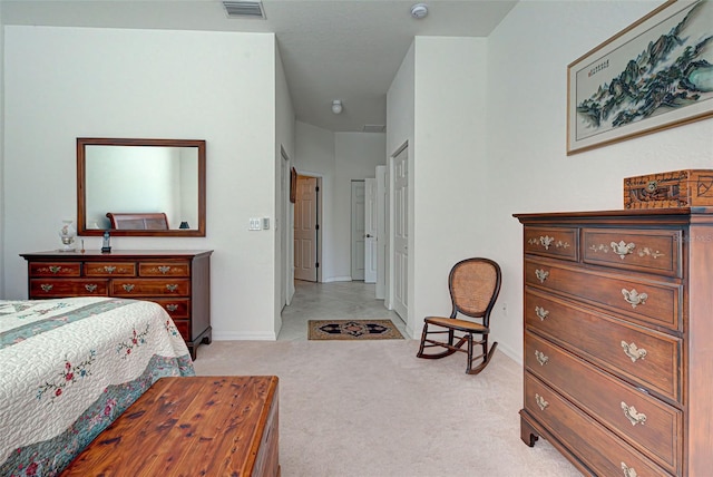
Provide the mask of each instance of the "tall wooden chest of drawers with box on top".
{"label": "tall wooden chest of drawers with box on top", "polygon": [[711,475],[713,207],[515,216],[525,444],[587,475]]}

